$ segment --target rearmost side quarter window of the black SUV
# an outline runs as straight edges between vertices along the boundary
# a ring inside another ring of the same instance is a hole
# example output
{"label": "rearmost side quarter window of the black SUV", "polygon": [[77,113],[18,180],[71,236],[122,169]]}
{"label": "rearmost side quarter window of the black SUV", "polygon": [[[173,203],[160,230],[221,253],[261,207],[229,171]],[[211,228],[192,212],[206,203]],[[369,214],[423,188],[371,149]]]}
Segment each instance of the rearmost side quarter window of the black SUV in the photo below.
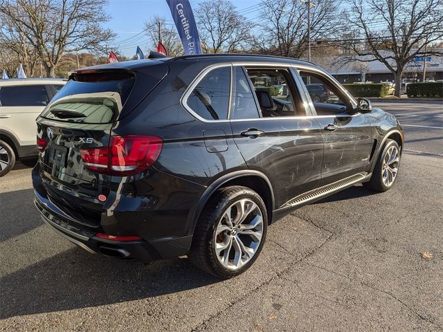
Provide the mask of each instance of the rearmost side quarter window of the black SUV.
{"label": "rearmost side quarter window of the black SUV", "polygon": [[186,104],[201,118],[228,118],[230,67],[213,69],[203,77],[190,93]]}

